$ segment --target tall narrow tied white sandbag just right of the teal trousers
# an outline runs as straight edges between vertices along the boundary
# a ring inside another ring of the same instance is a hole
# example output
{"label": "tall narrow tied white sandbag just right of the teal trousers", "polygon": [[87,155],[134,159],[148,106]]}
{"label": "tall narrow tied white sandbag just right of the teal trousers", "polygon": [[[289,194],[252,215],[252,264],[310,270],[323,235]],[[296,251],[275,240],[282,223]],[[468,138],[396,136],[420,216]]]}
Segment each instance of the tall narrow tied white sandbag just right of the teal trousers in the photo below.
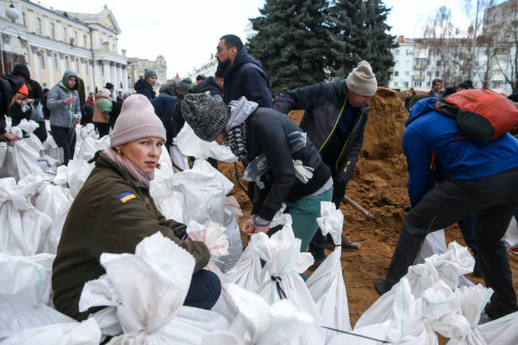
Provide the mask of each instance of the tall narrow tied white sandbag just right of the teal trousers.
{"label": "tall narrow tied white sandbag just right of the teal trousers", "polygon": [[[323,201],[320,205],[321,217],[316,219],[324,236],[331,234],[335,244],[334,251],[327,256],[324,262],[316,268],[316,271],[307,279],[306,285],[316,302],[321,317],[322,325],[339,329],[351,330],[349,319],[349,307],[347,300],[346,284],[343,283],[341,266],[341,233],[343,227],[343,213],[336,210],[334,203]],[[325,330],[326,339],[340,334],[329,329]]]}

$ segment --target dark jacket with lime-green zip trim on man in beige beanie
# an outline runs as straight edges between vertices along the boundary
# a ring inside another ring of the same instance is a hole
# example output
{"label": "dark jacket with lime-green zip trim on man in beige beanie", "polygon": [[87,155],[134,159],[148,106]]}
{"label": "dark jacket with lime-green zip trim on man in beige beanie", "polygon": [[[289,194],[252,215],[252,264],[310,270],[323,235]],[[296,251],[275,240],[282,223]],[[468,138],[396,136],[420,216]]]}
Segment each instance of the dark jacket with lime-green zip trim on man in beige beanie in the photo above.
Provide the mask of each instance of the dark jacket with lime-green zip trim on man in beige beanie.
{"label": "dark jacket with lime-green zip trim on man in beige beanie", "polygon": [[335,185],[347,186],[363,145],[363,132],[368,117],[368,106],[352,107],[346,99],[346,79],[335,78],[330,83],[319,83],[286,91],[273,108],[281,113],[305,109],[300,128],[307,132],[319,153],[338,130],[338,121],[346,107],[353,108],[353,128],[344,140],[336,162],[326,162],[331,167]]}

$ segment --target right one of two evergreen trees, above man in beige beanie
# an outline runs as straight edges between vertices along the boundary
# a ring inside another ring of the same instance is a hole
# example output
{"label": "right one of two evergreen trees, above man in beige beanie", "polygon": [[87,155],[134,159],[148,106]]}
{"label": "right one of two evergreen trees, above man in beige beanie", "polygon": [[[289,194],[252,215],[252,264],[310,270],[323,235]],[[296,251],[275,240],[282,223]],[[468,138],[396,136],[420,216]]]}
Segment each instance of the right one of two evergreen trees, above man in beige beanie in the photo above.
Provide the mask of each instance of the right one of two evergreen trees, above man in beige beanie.
{"label": "right one of two evergreen trees, above man in beige beanie", "polygon": [[389,35],[390,9],[380,0],[336,0],[329,7],[329,71],[347,77],[361,60],[373,67],[378,85],[387,85],[394,60],[390,49],[397,47]]}

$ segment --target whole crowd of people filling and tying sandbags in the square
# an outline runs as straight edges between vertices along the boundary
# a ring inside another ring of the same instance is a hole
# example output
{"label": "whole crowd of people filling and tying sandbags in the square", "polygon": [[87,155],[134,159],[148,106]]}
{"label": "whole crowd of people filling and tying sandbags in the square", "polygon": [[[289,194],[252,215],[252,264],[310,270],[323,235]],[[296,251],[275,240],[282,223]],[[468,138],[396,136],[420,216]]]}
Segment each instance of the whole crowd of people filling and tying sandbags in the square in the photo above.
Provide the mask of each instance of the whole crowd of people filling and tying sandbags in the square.
{"label": "whole crowd of people filling and tying sandbags in the square", "polygon": [[[62,230],[53,267],[57,310],[76,319],[99,310],[79,312],[77,303],[84,283],[104,273],[101,253],[133,252],[141,239],[157,231],[196,259],[185,304],[214,305],[221,285],[214,273],[203,269],[208,249],[189,239],[185,225],[166,220],[149,194],[160,152],[173,145],[184,123],[202,140],[228,145],[253,177],[248,183],[253,208],[244,234],[278,230],[270,223],[284,203],[295,237],[301,239],[300,250],[311,251],[314,267],[325,259],[326,239],[316,218],[322,201],[340,208],[353,176],[370,99],[378,89],[373,69],[359,61],[347,76],[285,91],[274,101],[267,74],[240,38],[222,36],[215,56],[219,66],[214,77],[199,75],[195,85],[190,79],[165,84],[159,96],[153,69],[134,85],[136,95],[119,91],[115,96],[114,85],[107,83],[84,100],[79,96],[81,89],[84,93],[82,81],[71,71],[50,90],[38,89],[24,65],[0,79],[1,109],[13,125],[31,118],[42,104],[51,135],[63,148],[63,164],[74,157],[75,125],[92,122],[99,137],[111,132],[110,147],[94,158],[96,167]],[[495,290],[486,311],[497,318],[518,310],[502,242],[518,209],[518,140],[509,133],[488,142],[465,137],[455,118],[436,108],[441,98],[471,89],[465,81],[443,91],[442,81],[434,79],[428,94],[414,89],[406,94],[403,106],[409,118],[403,145],[411,207],[387,276],[375,282],[375,289],[385,293],[404,276],[426,234],[459,222],[486,285]],[[495,102],[505,99],[499,97]],[[304,110],[300,125],[286,115],[293,110]],[[44,120],[38,123],[44,128]],[[19,138],[0,126],[0,139]],[[216,161],[212,164],[217,167]],[[342,242],[344,249],[358,249],[345,237]]]}

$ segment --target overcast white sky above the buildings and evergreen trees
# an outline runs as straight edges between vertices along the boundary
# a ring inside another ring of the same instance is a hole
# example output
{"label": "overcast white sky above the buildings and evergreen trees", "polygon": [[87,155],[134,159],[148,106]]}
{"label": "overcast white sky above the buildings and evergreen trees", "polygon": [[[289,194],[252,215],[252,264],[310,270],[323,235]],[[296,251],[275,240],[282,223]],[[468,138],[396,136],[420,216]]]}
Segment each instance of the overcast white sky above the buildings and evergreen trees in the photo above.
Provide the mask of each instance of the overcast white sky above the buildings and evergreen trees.
{"label": "overcast white sky above the buildings and evergreen trees", "polygon": [[[419,37],[426,20],[439,6],[453,6],[453,19],[463,21],[465,0],[385,0],[392,7],[388,23],[392,35]],[[62,11],[99,13],[104,4],[122,30],[119,53],[155,60],[165,57],[167,77],[185,77],[215,54],[219,38],[233,33],[246,40],[248,18],[259,16],[264,0],[43,0],[40,4]]]}

